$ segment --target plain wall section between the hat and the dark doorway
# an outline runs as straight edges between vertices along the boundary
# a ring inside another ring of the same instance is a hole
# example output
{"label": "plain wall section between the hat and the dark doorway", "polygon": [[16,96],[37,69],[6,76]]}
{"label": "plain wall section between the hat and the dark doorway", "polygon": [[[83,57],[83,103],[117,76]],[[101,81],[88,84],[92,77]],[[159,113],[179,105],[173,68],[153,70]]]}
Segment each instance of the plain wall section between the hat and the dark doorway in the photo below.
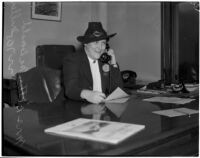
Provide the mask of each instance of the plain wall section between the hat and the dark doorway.
{"label": "plain wall section between the hat and the dark doorway", "polygon": [[122,70],[137,72],[138,79],[161,77],[160,3],[109,3],[108,30],[118,35],[111,43]]}

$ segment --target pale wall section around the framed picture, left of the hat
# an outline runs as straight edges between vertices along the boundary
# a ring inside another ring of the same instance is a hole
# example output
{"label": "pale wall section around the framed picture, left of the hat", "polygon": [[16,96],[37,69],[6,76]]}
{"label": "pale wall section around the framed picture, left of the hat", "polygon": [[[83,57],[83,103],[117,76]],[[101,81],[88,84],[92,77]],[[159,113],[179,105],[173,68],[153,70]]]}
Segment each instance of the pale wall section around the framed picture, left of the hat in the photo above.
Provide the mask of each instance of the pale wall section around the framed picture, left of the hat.
{"label": "pale wall section around the framed picture, left of the hat", "polygon": [[5,3],[3,76],[10,77],[36,65],[40,44],[74,44],[91,21],[90,3],[63,3],[61,22],[31,19],[31,3]]}

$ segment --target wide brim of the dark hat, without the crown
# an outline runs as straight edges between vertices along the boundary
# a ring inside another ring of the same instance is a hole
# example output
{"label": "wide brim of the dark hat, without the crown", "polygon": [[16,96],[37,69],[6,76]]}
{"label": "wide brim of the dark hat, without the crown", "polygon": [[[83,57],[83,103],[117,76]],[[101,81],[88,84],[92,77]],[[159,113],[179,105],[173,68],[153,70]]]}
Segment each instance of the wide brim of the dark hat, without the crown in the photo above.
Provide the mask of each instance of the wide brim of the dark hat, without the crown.
{"label": "wide brim of the dark hat, without the crown", "polygon": [[77,40],[81,43],[90,43],[94,41],[100,41],[100,40],[109,40],[110,38],[114,37],[117,33],[110,34],[108,36],[102,36],[102,37],[94,37],[94,38],[88,38],[87,36],[78,36]]}

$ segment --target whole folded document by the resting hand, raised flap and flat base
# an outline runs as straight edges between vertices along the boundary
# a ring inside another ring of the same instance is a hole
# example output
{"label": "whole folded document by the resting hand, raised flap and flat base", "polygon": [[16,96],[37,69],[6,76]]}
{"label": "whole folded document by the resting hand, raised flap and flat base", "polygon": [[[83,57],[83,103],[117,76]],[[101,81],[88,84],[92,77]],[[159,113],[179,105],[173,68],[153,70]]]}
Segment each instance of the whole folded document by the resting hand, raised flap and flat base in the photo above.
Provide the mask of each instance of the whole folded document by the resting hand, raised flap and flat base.
{"label": "whole folded document by the resting hand, raised flap and flat base", "polygon": [[121,88],[117,87],[106,99],[109,103],[125,103],[129,99],[129,95]]}

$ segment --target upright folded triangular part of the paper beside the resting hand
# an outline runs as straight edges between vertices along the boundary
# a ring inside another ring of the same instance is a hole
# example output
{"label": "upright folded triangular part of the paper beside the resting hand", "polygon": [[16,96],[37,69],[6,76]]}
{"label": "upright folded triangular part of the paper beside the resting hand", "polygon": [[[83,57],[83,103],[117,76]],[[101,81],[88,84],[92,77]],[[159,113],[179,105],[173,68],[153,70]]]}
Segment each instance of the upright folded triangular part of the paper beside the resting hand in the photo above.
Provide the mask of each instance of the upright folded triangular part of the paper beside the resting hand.
{"label": "upright folded triangular part of the paper beside the resting hand", "polygon": [[121,88],[117,87],[105,100],[111,101],[114,99],[125,98],[128,96],[129,95],[126,92],[124,92]]}

